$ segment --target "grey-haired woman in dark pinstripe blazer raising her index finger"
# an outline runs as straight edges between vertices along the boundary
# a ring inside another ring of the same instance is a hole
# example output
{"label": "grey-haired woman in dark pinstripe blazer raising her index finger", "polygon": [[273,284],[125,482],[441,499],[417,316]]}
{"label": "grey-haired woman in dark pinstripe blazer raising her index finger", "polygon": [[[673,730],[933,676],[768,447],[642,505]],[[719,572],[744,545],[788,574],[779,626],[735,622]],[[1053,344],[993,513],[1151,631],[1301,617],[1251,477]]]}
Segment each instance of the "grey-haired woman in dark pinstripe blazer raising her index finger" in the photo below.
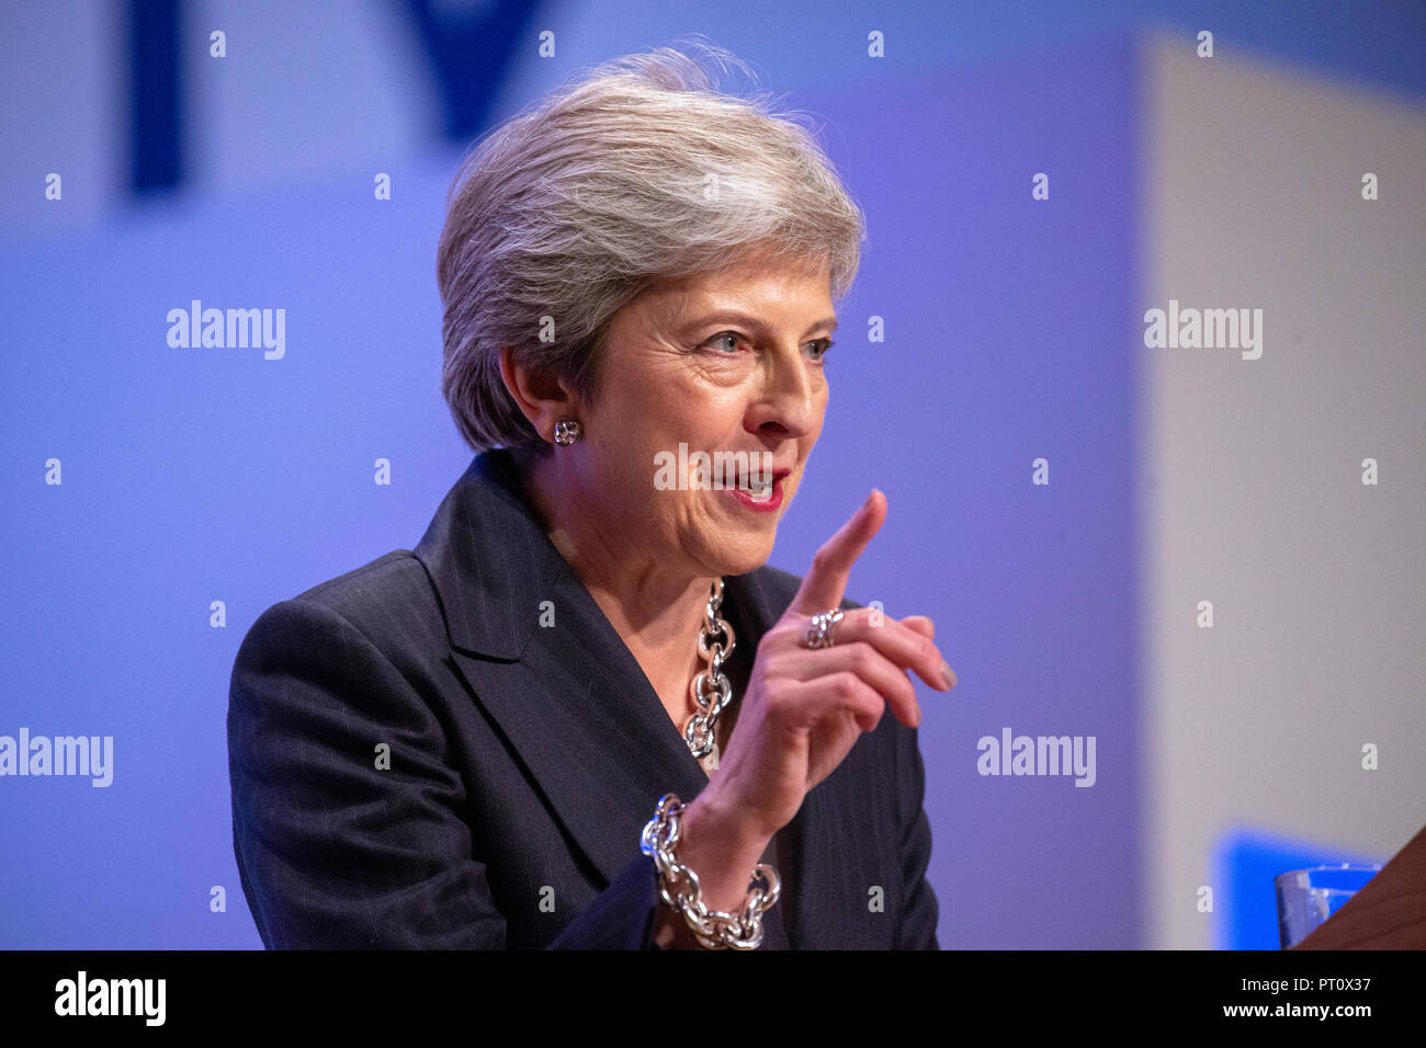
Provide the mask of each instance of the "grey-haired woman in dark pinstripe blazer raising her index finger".
{"label": "grey-haired woman in dark pinstripe blazer raising her index finger", "polygon": [[468,158],[442,392],[479,453],[234,667],[268,947],[935,948],[908,672],[954,674],[928,619],[843,600],[886,499],[763,566],[861,228],[804,128],[669,48]]}

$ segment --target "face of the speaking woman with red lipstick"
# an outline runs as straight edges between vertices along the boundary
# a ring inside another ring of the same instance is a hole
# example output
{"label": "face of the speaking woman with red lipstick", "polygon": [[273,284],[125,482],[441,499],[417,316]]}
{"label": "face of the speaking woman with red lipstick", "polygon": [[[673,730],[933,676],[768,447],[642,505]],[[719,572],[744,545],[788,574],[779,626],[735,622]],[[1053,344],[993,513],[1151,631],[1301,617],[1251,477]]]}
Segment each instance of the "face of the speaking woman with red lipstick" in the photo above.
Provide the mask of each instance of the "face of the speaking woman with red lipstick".
{"label": "face of the speaking woman with red lipstick", "polygon": [[[585,439],[556,449],[583,449],[582,498],[599,506],[600,530],[635,562],[693,575],[766,563],[821,433],[821,356],[836,324],[826,265],[809,272],[767,255],[660,282],[620,309],[600,396],[580,409]],[[729,488],[707,488],[707,475],[700,486],[697,452],[770,466],[771,498],[734,493],[746,478],[732,475]]]}

